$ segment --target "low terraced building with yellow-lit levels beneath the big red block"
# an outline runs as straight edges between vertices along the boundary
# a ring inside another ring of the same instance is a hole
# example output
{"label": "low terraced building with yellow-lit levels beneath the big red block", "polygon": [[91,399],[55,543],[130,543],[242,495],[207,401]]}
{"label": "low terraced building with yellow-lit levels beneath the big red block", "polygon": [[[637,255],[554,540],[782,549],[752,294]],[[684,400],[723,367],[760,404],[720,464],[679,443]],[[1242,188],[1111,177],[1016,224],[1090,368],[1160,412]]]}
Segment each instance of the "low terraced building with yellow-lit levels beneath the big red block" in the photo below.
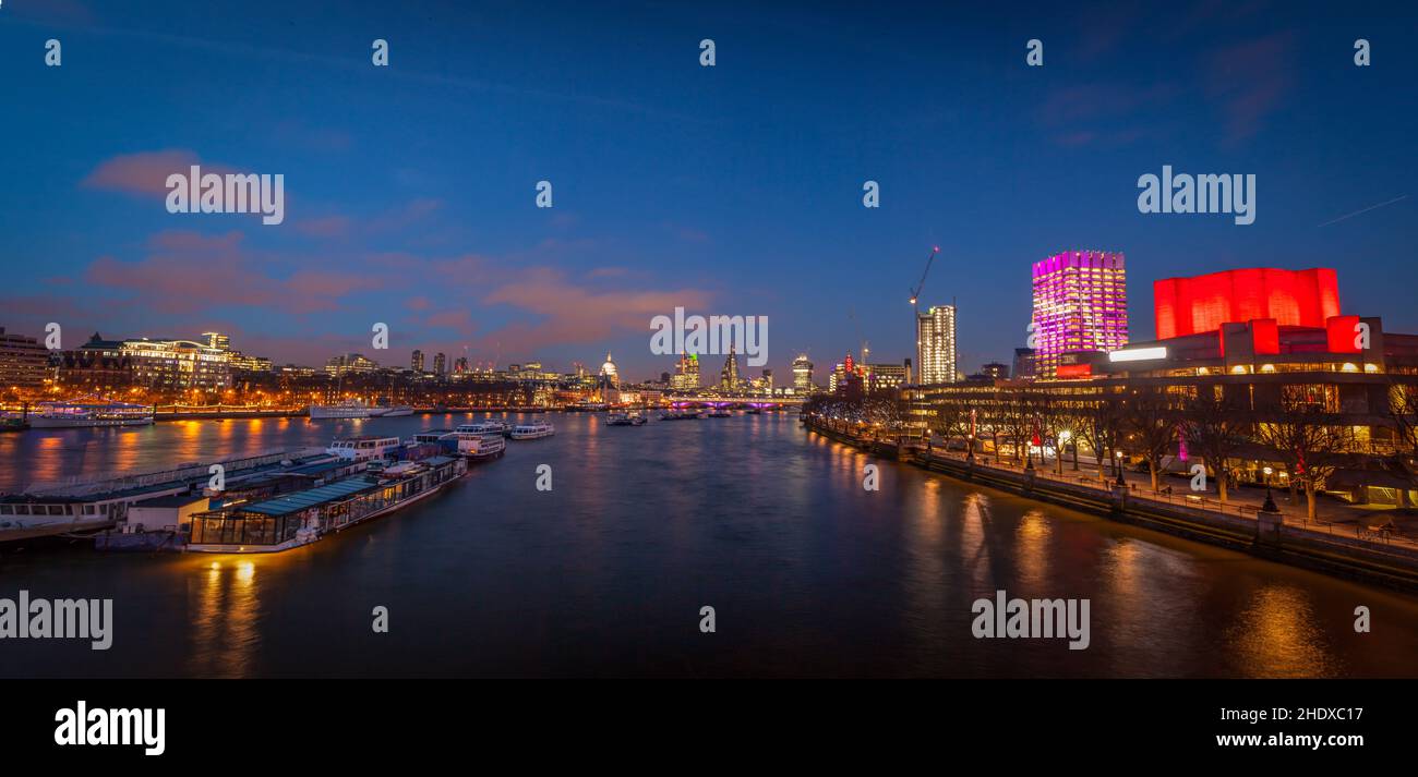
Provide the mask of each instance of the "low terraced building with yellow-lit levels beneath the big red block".
{"label": "low terraced building with yellow-lit levels beneath the big red block", "polygon": [[1154,489],[1200,461],[1215,496],[1272,485],[1303,491],[1312,520],[1326,495],[1418,527],[1407,515],[1418,505],[1418,336],[1383,332],[1377,318],[1256,320],[1071,356],[1059,380],[910,388],[906,427],[1017,462],[1055,447],[1139,462]]}

